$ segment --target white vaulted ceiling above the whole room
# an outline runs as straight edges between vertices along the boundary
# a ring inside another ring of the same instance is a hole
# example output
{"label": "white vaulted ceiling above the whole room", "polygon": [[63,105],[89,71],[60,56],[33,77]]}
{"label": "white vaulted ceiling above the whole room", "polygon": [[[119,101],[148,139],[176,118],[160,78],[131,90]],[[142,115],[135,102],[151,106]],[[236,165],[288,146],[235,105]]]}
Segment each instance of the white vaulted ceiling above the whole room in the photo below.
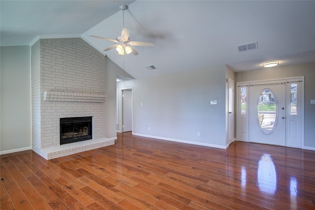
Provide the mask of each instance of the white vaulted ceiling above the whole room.
{"label": "white vaulted ceiling above the whole room", "polygon": [[[125,56],[125,70],[144,78],[227,64],[235,72],[315,62],[315,1],[212,0],[1,0],[1,46],[32,45],[38,38],[82,37],[102,52],[123,28],[131,41],[154,42]],[[257,41],[258,49],[237,45]],[[104,53],[104,52],[103,52]],[[107,57],[123,67],[115,49]],[[147,70],[145,66],[157,69]]]}

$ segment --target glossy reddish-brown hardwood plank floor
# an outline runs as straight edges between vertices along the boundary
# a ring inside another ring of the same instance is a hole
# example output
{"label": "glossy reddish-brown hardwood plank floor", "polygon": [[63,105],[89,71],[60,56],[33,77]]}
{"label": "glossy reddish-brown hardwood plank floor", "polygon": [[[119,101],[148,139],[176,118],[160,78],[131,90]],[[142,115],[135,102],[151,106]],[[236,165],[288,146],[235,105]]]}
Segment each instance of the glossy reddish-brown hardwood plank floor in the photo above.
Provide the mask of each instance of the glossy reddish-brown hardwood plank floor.
{"label": "glossy reddish-brown hardwood plank floor", "polygon": [[118,134],[115,145],[45,160],[1,155],[0,209],[314,210],[315,151],[227,150]]}

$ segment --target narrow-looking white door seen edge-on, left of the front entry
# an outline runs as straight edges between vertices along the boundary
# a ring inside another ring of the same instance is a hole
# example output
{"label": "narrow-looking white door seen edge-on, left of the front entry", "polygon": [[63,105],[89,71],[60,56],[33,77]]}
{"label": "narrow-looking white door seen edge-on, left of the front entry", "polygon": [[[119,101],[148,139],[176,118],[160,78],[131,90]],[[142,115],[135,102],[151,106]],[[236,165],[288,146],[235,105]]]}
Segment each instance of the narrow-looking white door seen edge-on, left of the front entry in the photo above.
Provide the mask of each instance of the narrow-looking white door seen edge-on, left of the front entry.
{"label": "narrow-looking white door seen edge-on, left of the front entry", "polygon": [[234,81],[228,79],[228,144],[234,140]]}

